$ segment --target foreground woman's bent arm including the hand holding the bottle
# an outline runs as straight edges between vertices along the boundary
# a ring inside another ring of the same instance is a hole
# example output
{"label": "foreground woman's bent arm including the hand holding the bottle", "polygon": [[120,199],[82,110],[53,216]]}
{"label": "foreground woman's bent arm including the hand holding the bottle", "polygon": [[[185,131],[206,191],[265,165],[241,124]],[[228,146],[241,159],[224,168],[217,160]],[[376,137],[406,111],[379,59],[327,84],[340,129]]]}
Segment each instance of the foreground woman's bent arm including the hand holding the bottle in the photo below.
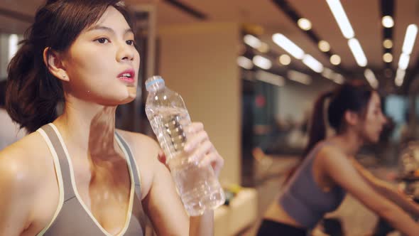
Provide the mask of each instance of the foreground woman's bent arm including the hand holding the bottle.
{"label": "foreground woman's bent arm including the hand holding the bottle", "polygon": [[[203,166],[211,165],[216,176],[224,164],[221,156],[208,139],[200,123],[188,127],[186,151],[194,161]],[[139,137],[138,137],[139,138]],[[136,158],[141,159],[141,185],[145,188],[143,208],[151,218],[158,235],[214,235],[214,212],[207,210],[203,215],[188,217],[175,183],[165,163],[165,156],[152,139],[136,140]],[[140,155],[141,154],[141,155]],[[142,157],[141,157],[142,156]],[[148,158],[144,158],[148,156]],[[140,168],[140,166],[138,166]],[[151,176],[151,177],[150,177]]]}

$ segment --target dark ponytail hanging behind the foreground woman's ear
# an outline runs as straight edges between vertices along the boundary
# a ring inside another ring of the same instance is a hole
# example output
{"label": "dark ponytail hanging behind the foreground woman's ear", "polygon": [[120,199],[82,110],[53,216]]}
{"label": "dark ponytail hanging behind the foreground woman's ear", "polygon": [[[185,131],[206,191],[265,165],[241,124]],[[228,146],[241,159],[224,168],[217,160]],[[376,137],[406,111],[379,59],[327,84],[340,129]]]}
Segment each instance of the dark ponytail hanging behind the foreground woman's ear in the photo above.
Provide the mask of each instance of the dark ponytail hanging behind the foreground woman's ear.
{"label": "dark ponytail hanging behind the foreground woman's ear", "polygon": [[28,132],[53,122],[57,103],[62,100],[62,85],[50,75],[42,53],[41,45],[21,41],[8,67],[6,109],[11,119]]}

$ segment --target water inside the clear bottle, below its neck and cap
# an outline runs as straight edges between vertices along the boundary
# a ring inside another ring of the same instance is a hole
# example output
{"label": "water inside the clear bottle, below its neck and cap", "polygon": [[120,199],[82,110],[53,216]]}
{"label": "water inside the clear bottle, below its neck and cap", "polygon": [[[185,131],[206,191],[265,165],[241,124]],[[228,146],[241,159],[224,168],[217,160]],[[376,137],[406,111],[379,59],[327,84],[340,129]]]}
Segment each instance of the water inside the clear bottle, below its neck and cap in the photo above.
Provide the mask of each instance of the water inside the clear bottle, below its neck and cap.
{"label": "water inside the clear bottle, below its neck and cap", "polygon": [[205,209],[214,209],[224,203],[224,192],[211,166],[199,168],[189,163],[183,151],[186,135],[184,128],[190,124],[186,109],[148,107],[151,127],[165,152],[170,172],[190,215],[202,215]]}

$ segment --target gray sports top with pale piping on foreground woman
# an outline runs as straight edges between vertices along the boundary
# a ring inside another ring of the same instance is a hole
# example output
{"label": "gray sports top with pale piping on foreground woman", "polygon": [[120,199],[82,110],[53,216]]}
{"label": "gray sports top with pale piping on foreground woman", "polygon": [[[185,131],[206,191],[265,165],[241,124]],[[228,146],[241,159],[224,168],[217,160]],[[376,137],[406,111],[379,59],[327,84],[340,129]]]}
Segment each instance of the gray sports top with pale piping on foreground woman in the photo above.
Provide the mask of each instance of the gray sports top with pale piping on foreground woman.
{"label": "gray sports top with pale piping on foreground woman", "polygon": [[[75,178],[72,170],[71,159],[67,147],[54,124],[46,124],[38,129],[45,142],[48,144],[55,164],[55,172],[58,177],[60,198],[57,210],[50,224],[47,225],[38,235],[89,235],[89,236],[111,236],[109,232],[97,222],[86,205],[82,202],[80,195],[75,188]],[[147,218],[141,206],[141,187],[139,172],[136,162],[131,154],[129,146],[124,139],[115,133],[116,141],[124,151],[126,162],[129,166],[131,177],[131,193],[129,209],[126,214],[126,221],[123,230],[118,236],[141,236],[144,235]]]}

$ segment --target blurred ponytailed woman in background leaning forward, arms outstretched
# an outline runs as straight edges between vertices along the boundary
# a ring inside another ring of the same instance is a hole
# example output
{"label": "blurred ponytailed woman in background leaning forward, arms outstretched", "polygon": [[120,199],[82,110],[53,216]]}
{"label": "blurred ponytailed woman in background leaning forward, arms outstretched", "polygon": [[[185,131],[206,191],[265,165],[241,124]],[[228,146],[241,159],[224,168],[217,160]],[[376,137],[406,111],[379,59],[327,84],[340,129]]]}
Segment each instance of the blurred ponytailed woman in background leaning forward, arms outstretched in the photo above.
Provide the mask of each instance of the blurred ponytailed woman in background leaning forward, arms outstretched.
{"label": "blurred ponytailed woman in background leaning forward, arms outstretched", "polygon": [[[325,100],[330,98],[325,111]],[[327,112],[327,120],[324,113]],[[335,134],[326,137],[326,124]],[[359,80],[325,92],[315,102],[305,158],[288,178],[280,198],[266,211],[258,236],[306,235],[346,193],[406,235],[418,235],[419,206],[375,178],[354,159],[364,144],[376,143],[386,118],[378,92]]]}

